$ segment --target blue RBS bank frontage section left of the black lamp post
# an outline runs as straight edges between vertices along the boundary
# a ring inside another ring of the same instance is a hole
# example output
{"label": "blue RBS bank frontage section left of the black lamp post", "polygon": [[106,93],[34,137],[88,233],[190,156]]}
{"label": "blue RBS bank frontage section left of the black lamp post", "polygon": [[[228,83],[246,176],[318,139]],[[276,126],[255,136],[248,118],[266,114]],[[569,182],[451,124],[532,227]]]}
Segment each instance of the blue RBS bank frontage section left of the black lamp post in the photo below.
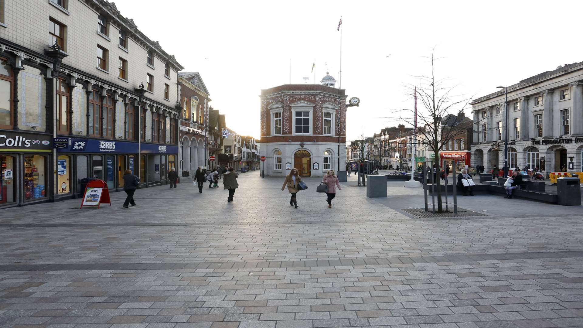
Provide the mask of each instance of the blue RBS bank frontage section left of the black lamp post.
{"label": "blue RBS bank frontage section left of the black lamp post", "polygon": [[57,186],[60,197],[82,194],[82,180],[85,178],[104,180],[110,191],[121,191],[125,170],[136,174],[137,142],[66,139],[66,147],[58,148]]}

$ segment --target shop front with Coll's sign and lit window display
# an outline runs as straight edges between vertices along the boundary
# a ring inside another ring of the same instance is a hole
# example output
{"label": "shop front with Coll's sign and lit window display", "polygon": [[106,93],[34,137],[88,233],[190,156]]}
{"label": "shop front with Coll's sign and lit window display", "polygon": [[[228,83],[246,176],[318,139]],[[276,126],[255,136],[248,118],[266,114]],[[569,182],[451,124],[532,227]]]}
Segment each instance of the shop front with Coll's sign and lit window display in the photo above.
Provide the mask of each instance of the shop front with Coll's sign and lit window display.
{"label": "shop front with Coll's sign and lit window display", "polygon": [[47,201],[51,135],[0,131],[0,207]]}

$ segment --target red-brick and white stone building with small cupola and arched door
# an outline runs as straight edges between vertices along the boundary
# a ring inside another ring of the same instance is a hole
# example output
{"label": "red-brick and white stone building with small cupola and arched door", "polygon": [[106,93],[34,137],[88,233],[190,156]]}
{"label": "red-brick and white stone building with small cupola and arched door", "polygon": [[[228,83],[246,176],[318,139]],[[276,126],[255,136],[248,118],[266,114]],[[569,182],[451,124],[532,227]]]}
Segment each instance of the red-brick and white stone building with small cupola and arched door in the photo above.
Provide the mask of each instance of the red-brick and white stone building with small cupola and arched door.
{"label": "red-brick and white stone building with small cupola and arched door", "polygon": [[261,90],[261,151],[265,175],[302,176],[345,170],[346,93],[326,75],[322,85],[281,85]]}

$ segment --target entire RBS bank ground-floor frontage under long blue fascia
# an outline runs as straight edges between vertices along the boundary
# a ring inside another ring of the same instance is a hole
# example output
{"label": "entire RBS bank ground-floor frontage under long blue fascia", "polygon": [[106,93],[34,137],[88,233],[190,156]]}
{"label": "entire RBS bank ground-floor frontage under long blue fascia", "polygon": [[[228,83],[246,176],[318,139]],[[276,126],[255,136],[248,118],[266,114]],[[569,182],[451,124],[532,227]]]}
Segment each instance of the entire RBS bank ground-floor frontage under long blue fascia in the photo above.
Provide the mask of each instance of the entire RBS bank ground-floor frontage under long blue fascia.
{"label": "entire RBS bank ground-floor frontage under long blue fascia", "polygon": [[[168,171],[176,168],[178,146],[91,138],[55,138],[57,186],[62,194],[83,193],[85,178],[102,179],[110,191],[124,188],[125,170],[138,176],[142,186],[167,184]],[[139,154],[139,156],[138,156]]]}

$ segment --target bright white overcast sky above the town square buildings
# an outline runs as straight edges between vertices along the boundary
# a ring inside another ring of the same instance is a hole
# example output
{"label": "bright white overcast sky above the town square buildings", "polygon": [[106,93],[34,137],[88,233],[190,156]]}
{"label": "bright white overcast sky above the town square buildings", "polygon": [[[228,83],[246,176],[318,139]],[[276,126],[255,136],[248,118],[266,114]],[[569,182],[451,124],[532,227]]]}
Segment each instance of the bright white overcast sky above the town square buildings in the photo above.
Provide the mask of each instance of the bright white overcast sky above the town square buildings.
{"label": "bright white overcast sky above the town square buildings", "polygon": [[[339,81],[359,97],[346,113],[347,141],[409,116],[407,83],[430,74],[460,97],[480,97],[559,65],[583,61],[583,2],[547,1],[190,1],[117,0],[185,72],[200,72],[214,109],[240,135],[261,137],[261,89]],[[389,57],[387,57],[389,55]],[[290,74],[291,61],[291,74]],[[315,62],[314,73],[311,72]],[[339,87],[339,82],[336,83]],[[462,106],[462,105],[460,105]],[[418,104],[420,114],[423,110]],[[452,109],[457,113],[461,107]],[[466,116],[472,117],[466,107]]]}

